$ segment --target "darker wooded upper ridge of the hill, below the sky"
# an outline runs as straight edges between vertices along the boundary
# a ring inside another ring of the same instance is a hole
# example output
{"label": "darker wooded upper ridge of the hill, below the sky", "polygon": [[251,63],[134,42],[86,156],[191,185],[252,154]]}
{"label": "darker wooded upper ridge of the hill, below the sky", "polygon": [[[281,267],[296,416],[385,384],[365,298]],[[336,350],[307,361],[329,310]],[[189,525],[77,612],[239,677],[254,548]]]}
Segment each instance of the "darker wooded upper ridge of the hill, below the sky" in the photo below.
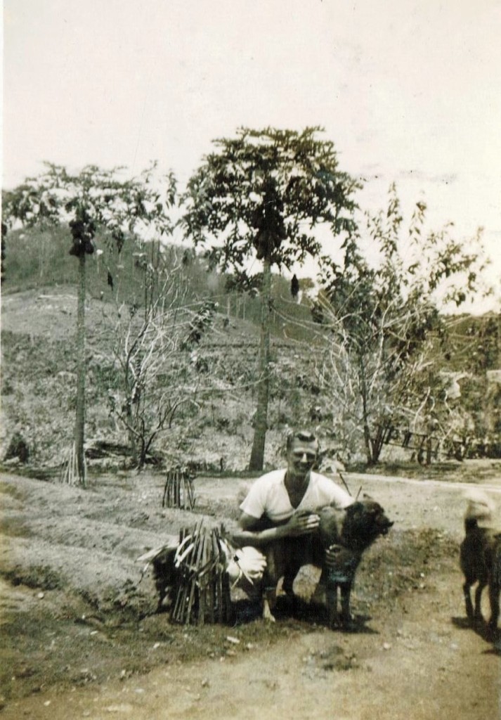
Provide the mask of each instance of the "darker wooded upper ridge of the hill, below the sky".
{"label": "darker wooded upper ridge of the hill, below the sky", "polygon": [[[7,235],[5,246],[1,286],[4,294],[76,284],[77,267],[68,253],[66,226],[13,230]],[[87,294],[90,298],[141,305],[144,302],[144,278],[140,260],[146,258],[156,265],[158,254],[162,253],[168,266],[180,263],[183,266],[187,305],[196,306],[211,300],[217,303],[216,310],[221,315],[260,323],[261,308],[256,293],[228,289],[231,276],[209,269],[207,258],[195,253],[186,243],[158,246],[158,243],[141,243],[130,238],[119,252],[113,243],[109,243],[107,235],[98,233],[96,247],[102,253],[94,253],[89,258]],[[299,285],[305,292],[299,300],[294,300],[289,280],[279,274],[273,275],[271,333],[276,337],[304,341],[317,334],[306,294],[313,287],[312,280],[299,279]]]}

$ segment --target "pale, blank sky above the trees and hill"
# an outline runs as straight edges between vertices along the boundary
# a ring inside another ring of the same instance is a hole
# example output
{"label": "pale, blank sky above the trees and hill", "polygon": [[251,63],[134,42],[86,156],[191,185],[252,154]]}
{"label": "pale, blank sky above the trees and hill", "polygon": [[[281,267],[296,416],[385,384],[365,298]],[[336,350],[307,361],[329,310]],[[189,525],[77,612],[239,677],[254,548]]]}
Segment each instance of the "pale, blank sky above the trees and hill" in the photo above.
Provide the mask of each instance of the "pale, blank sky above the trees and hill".
{"label": "pale, blank sky above the trees and hill", "polygon": [[482,225],[501,287],[500,0],[3,5],[4,187],[44,160],[182,184],[240,125],[322,125],[367,204],[396,181],[433,229]]}

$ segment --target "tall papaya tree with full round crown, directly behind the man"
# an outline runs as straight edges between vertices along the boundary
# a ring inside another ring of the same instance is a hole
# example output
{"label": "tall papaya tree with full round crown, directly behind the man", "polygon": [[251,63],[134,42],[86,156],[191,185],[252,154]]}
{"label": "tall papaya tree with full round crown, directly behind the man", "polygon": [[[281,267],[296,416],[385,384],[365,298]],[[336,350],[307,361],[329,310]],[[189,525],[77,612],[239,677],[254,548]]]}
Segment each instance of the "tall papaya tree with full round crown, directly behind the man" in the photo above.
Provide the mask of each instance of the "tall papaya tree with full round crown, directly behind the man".
{"label": "tall papaya tree with full round crown, directly behind the man", "polygon": [[[353,231],[358,187],[338,168],[335,147],[320,127],[293,130],[240,128],[215,140],[189,180],[184,230],[195,246],[209,245],[212,267],[232,269],[236,287],[261,294],[258,405],[250,469],[262,469],[266,441],[271,313],[271,268],[291,269],[319,257],[317,227],[332,235]],[[260,261],[256,266],[254,261]]]}

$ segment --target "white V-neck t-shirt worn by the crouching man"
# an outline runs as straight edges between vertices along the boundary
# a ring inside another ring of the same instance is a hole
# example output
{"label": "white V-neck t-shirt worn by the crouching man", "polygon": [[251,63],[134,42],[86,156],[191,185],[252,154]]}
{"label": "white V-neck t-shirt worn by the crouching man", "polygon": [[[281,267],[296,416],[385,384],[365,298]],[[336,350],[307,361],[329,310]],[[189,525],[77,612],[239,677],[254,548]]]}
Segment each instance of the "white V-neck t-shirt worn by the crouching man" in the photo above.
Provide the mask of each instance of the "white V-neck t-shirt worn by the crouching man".
{"label": "white V-neck t-shirt worn by the crouching man", "polygon": [[310,472],[310,482],[304,497],[297,508],[293,508],[285,487],[285,474],[284,469],[273,470],[258,478],[250,487],[240,510],[253,518],[261,518],[266,513],[273,523],[280,523],[288,520],[296,510],[316,510],[322,505],[333,505],[342,510],[353,503],[351,495],[333,480],[317,472]]}

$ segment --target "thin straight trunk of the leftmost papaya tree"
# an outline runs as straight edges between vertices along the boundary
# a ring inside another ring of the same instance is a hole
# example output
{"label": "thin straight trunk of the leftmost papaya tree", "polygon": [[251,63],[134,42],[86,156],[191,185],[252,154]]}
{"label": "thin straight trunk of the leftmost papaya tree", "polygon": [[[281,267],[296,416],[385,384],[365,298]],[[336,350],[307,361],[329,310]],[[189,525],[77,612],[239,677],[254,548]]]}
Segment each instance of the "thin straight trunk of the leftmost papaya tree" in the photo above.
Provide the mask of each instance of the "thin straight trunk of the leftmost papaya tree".
{"label": "thin straight trunk of the leftmost papaya tree", "polygon": [[76,423],[75,451],[78,482],[86,487],[85,440],[85,253],[78,256],[78,307],[76,315]]}

